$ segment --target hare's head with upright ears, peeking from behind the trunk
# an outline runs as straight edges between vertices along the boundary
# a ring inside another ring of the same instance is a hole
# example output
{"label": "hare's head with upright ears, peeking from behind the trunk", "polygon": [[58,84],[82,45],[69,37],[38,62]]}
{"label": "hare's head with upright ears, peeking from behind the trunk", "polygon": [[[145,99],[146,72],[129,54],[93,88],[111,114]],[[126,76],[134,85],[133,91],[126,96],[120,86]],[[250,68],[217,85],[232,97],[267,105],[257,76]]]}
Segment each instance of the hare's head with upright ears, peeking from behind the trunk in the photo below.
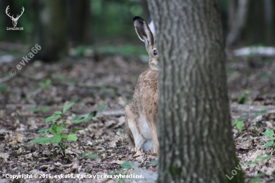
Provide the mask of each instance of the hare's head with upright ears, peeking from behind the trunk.
{"label": "hare's head with upright ears, peeking from behind the trunk", "polygon": [[146,50],[149,54],[149,67],[152,70],[158,70],[158,52],[154,38],[155,27],[150,18],[148,18],[147,23],[139,16],[133,18],[135,31],[140,40],[145,42]]}

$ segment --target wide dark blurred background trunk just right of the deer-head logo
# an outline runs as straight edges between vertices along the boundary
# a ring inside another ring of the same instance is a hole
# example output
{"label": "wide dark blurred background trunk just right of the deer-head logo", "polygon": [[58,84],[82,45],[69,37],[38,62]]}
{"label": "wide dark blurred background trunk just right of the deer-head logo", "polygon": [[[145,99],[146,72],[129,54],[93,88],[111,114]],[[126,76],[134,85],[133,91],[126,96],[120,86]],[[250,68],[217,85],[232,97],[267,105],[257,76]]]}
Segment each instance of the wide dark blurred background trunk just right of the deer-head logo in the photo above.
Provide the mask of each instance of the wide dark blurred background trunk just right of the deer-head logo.
{"label": "wide dark blurred background trunk just right of the deer-head logo", "polygon": [[66,0],[30,1],[33,17],[33,46],[41,49],[35,59],[58,59],[66,51]]}

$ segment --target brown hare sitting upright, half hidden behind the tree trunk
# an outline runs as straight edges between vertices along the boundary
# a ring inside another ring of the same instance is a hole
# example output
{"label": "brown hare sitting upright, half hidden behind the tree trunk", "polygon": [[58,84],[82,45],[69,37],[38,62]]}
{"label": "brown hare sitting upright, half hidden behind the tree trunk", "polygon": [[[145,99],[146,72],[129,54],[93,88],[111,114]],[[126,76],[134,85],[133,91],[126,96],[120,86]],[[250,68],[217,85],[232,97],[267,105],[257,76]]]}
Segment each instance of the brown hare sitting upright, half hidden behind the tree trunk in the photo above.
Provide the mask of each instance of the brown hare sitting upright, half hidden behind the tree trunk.
{"label": "brown hare sitting upright, half hidden behind the tree trunk", "polygon": [[150,18],[147,23],[141,17],[133,18],[135,31],[149,54],[149,68],[139,75],[132,102],[125,107],[125,124],[131,147],[143,151],[153,148],[153,153],[158,153],[158,55],[154,24]]}

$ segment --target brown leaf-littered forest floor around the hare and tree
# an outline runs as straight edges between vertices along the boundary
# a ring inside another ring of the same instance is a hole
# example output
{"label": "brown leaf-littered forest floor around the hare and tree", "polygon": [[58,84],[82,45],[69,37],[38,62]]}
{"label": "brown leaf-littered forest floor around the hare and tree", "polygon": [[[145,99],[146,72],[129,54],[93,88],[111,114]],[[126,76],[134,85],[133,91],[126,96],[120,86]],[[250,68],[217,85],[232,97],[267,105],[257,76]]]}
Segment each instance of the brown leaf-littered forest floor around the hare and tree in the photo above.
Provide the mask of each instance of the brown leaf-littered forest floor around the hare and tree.
{"label": "brown leaf-littered forest floor around the hare and tree", "polygon": [[[0,182],[154,182],[158,157],[128,148],[123,115],[147,63],[138,56],[83,56],[52,63],[36,60],[18,70],[21,59],[0,62]],[[14,76],[7,74],[11,68],[16,70]],[[245,181],[275,182],[273,147],[262,148],[270,140],[262,132],[275,130],[275,59],[228,56],[226,71],[231,118],[236,123],[233,137]],[[71,102],[75,103],[63,116],[69,123],[66,128],[83,130],[73,132],[78,139],[68,141],[66,158],[56,143],[30,143],[43,136],[38,129],[49,127],[44,119]],[[71,123],[91,111],[97,115]],[[6,174],[32,178],[15,180]],[[68,174],[74,177],[62,177]],[[127,176],[114,178],[118,174]],[[128,178],[133,174],[143,178]]]}

